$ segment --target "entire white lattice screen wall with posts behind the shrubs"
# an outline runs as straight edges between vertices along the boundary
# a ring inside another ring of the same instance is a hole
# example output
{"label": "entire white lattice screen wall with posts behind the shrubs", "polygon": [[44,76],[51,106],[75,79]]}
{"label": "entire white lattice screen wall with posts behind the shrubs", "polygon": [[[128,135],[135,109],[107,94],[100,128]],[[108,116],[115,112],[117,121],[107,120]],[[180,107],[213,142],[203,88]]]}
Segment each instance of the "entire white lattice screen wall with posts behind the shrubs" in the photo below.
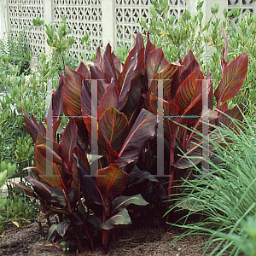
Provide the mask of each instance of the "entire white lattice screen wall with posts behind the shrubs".
{"label": "entire white lattice screen wall with posts behind the shrubs", "polygon": [[[183,14],[184,9],[195,12],[197,0],[168,0],[169,15],[177,18]],[[45,24],[59,23],[61,15],[67,17],[67,26],[72,28],[76,38],[73,44],[74,57],[80,57],[84,51],[80,38],[90,34],[92,51],[96,47],[104,46],[110,42],[113,46],[120,43],[130,43],[132,36],[139,29],[138,21],[144,17],[150,18],[149,6],[151,0],[0,0],[1,3],[1,38],[5,32],[12,31],[17,34],[24,30],[26,38],[31,45],[32,54],[48,52],[49,47],[44,43],[44,28],[41,30],[33,26],[32,19],[37,16]],[[203,11],[205,17],[210,15],[211,6],[220,5],[222,10],[241,7],[242,15],[248,11],[255,13],[253,0],[205,0]]]}

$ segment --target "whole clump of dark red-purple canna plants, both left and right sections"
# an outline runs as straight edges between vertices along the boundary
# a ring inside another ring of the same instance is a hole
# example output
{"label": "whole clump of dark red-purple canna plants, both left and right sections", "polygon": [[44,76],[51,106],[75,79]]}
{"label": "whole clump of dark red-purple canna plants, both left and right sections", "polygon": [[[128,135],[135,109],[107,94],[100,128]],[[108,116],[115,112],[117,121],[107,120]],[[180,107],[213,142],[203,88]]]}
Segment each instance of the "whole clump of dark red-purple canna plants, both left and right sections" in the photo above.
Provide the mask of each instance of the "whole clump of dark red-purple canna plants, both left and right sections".
{"label": "whole clump of dark red-purple canna plants, both left and right sections", "polygon": [[[224,48],[223,79],[214,92],[217,108],[212,110],[211,73],[204,82],[192,51],[184,61],[168,63],[162,49],[155,48],[147,36],[144,46],[142,35],[137,34],[125,63],[108,44],[103,55],[97,49],[90,69],[83,62],[76,70],[65,67],[65,76],[60,74],[58,89],[52,96],[47,128],[22,111],[35,143],[35,167],[26,177],[34,191],[17,185],[41,201],[50,226],[49,240],[54,244],[57,234],[65,236],[73,231],[80,252],[84,249],[83,239],[93,250],[95,236],[102,234],[103,253],[107,253],[115,226],[131,224],[131,208],[139,215],[141,207],[168,198],[160,181],[150,175],[152,170],[138,167],[146,154],[152,154],[153,159],[157,156],[154,143],[158,104],[163,104],[165,115],[168,196],[176,192],[173,185],[177,170],[193,166],[188,156],[196,157],[194,164],[201,161],[203,141],[197,134],[202,131],[207,113],[215,125],[232,126],[218,110],[241,119],[238,108],[228,109],[227,101],[241,88],[247,54],[227,64]],[[161,79],[164,97],[158,99],[157,80]],[[203,83],[207,83],[209,96],[202,90]],[[56,131],[63,114],[69,122],[58,143]],[[184,155],[179,157],[181,152]],[[94,154],[97,160],[91,160]],[[50,224],[50,214],[59,216],[58,224]]]}

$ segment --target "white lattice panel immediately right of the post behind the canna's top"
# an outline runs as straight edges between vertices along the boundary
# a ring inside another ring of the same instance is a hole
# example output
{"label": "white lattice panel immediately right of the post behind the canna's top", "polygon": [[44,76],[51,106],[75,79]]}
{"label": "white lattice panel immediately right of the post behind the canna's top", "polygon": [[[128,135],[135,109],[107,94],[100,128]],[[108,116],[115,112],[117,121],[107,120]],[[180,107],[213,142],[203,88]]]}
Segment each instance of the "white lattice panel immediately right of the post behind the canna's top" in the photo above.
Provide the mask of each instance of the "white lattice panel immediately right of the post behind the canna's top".
{"label": "white lattice panel immediately right of the post behind the canna's top", "polygon": [[[131,44],[131,38],[140,31],[139,20],[145,18],[149,22],[150,0],[116,0],[116,32],[119,44]],[[186,9],[186,0],[169,0],[169,16],[177,19]]]}

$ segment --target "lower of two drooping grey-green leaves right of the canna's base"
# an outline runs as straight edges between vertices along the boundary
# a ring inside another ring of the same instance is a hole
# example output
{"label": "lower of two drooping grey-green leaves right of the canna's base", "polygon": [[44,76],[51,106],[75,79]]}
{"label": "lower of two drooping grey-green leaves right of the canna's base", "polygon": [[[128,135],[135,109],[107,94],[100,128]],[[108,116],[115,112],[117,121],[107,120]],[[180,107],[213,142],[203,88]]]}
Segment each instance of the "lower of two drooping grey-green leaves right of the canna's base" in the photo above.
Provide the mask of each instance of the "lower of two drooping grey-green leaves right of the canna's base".
{"label": "lower of two drooping grey-green leaves right of the canna's base", "polygon": [[131,224],[131,218],[126,209],[123,209],[121,212],[115,214],[112,218],[109,218],[107,221],[102,223],[103,230],[111,230],[115,225],[127,225]]}

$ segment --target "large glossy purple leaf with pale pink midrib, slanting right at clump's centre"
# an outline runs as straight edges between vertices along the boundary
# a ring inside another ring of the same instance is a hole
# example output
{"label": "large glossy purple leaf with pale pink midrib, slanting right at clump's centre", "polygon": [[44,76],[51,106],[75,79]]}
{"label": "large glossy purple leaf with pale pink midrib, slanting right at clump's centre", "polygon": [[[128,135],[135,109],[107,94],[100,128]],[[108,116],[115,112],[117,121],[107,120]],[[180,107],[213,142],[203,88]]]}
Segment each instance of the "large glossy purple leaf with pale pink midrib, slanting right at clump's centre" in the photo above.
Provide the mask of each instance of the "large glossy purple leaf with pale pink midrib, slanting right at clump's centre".
{"label": "large glossy purple leaf with pale pink midrib, slanting right at clump's centre", "polygon": [[137,160],[148,140],[154,136],[156,124],[156,115],[142,109],[119,151],[117,163],[121,167]]}

